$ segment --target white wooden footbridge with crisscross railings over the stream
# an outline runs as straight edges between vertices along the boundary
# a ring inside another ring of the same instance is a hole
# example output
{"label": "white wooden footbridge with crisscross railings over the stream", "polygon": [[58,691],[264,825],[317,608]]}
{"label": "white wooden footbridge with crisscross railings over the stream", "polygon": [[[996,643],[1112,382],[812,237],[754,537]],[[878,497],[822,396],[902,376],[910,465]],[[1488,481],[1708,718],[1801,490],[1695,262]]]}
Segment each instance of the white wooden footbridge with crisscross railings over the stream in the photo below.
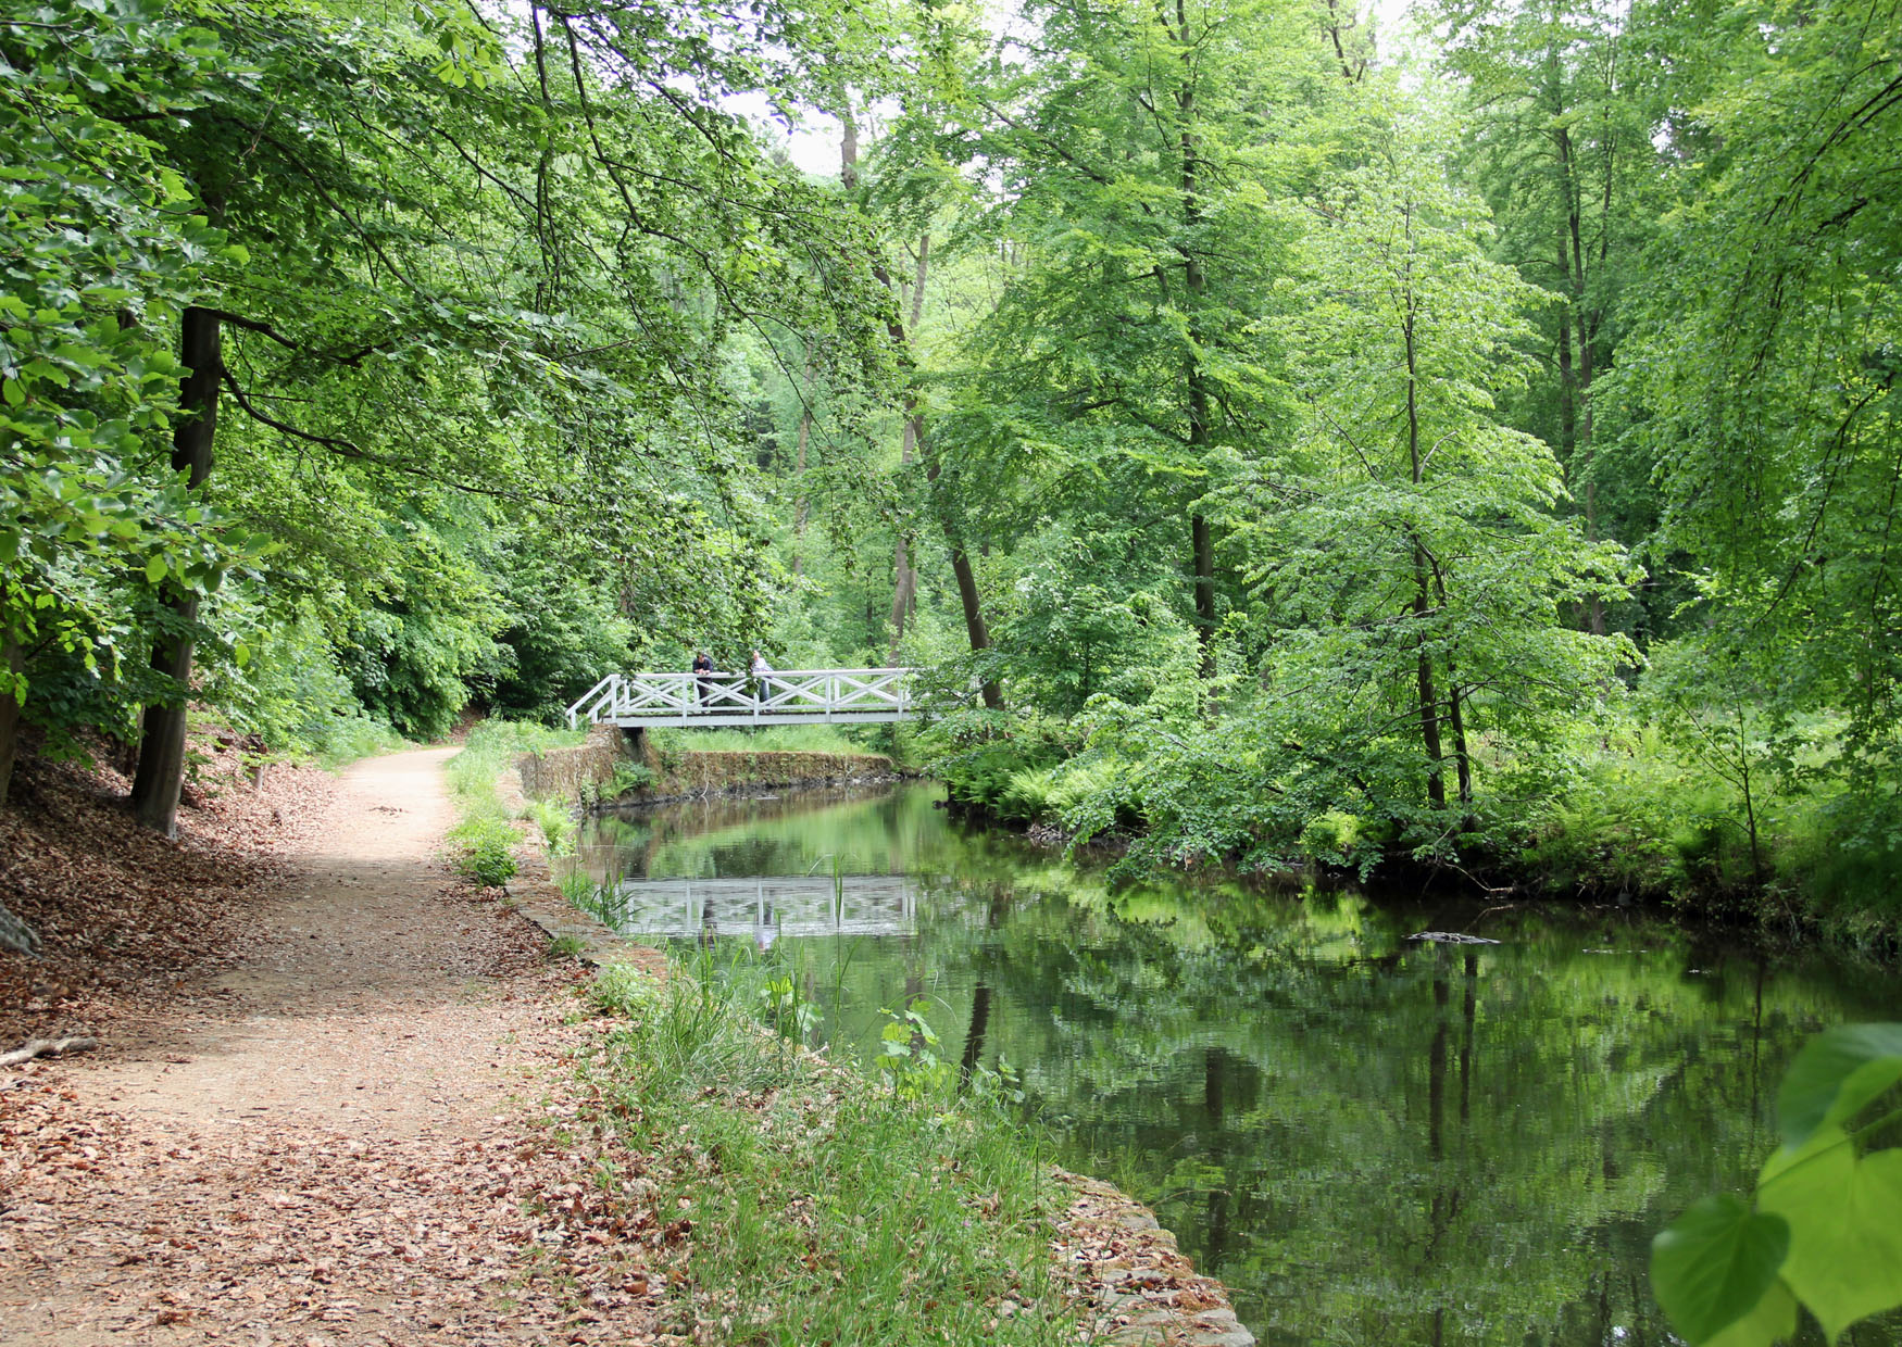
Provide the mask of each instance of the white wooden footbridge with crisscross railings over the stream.
{"label": "white wooden footbridge with crisscross railings over the stream", "polygon": [[656,726],[801,726],[909,720],[917,669],[774,669],[763,674],[609,674],[569,707],[580,722]]}

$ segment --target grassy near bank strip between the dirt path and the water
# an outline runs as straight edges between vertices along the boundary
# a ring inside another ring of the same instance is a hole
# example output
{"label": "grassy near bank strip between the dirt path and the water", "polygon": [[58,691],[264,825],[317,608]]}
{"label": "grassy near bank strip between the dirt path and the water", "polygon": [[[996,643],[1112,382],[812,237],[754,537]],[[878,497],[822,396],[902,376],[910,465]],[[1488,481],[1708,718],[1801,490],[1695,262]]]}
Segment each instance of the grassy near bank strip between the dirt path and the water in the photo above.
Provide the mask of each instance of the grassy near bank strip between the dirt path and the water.
{"label": "grassy near bank strip between the dirt path and the water", "polygon": [[[825,794],[829,783],[810,785]],[[548,819],[517,769],[489,798]],[[506,891],[599,971],[590,996],[609,1030],[582,1060],[593,1104],[576,1123],[671,1157],[633,1184],[694,1231],[683,1279],[692,1313],[675,1332],[881,1347],[1252,1347],[1225,1288],[1194,1271],[1153,1212],[1052,1167],[1046,1138],[1008,1098],[1012,1083],[980,1073],[970,1089],[922,1047],[922,1022],[867,1089],[862,1072],[789,1041],[810,1009],[791,980],[723,969],[711,948],[660,980],[628,977],[624,952],[652,950],[569,904],[548,864],[567,836],[527,828]],[[757,1286],[772,1294],[747,1294]]]}

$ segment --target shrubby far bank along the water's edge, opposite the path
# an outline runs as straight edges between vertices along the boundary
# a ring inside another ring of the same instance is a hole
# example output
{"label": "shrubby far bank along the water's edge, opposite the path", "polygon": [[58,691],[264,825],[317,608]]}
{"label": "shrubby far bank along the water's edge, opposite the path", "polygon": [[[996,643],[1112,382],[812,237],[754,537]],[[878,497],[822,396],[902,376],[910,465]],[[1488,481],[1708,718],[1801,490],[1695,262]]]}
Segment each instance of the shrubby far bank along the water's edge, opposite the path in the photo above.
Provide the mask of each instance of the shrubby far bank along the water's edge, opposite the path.
{"label": "shrubby far bank along the water's edge, opposite the path", "polygon": [[[1630,741],[1626,741],[1630,739]],[[1086,849],[1139,874],[1290,876],[1466,893],[1497,902],[1617,906],[1687,927],[1902,956],[1894,790],[1818,777],[1742,796],[1643,735],[1607,737],[1581,771],[1510,800],[1482,792],[1465,823],[1360,788],[1301,800],[1274,754],[1252,775],[1208,760],[1084,750],[1069,726],[985,726],[934,758],[947,807],[1031,844]],[[940,745],[945,747],[945,745]],[[1489,762],[1487,768],[1503,769]],[[1497,775],[1497,771],[1495,771]]]}

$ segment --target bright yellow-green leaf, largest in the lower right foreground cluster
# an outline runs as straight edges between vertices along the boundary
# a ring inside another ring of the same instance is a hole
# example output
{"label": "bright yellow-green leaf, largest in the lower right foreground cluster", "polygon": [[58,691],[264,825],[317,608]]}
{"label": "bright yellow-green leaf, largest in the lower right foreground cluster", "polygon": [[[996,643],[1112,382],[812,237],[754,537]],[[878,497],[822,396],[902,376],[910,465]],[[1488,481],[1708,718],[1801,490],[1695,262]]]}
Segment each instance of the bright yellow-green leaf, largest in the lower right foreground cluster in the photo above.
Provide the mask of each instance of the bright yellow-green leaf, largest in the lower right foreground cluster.
{"label": "bright yellow-green leaf, largest in the lower right foreground cluster", "polygon": [[1782,1279],[1834,1341],[1902,1305],[1902,1151],[1856,1159],[1839,1127],[1771,1157],[1757,1206],[1790,1224]]}

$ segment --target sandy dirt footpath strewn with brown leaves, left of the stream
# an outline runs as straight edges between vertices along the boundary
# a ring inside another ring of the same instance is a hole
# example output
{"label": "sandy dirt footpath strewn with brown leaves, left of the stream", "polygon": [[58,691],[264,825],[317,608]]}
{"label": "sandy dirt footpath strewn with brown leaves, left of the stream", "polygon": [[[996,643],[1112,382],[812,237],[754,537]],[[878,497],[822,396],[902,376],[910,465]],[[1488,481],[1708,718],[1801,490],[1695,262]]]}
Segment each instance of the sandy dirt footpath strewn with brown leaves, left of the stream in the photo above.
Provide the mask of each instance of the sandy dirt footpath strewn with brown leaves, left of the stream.
{"label": "sandy dirt footpath strewn with brown leaves, left of the stream", "polygon": [[437,857],[453,752],[352,768],[192,1009],[0,1072],[0,1341],[654,1341],[574,975]]}

